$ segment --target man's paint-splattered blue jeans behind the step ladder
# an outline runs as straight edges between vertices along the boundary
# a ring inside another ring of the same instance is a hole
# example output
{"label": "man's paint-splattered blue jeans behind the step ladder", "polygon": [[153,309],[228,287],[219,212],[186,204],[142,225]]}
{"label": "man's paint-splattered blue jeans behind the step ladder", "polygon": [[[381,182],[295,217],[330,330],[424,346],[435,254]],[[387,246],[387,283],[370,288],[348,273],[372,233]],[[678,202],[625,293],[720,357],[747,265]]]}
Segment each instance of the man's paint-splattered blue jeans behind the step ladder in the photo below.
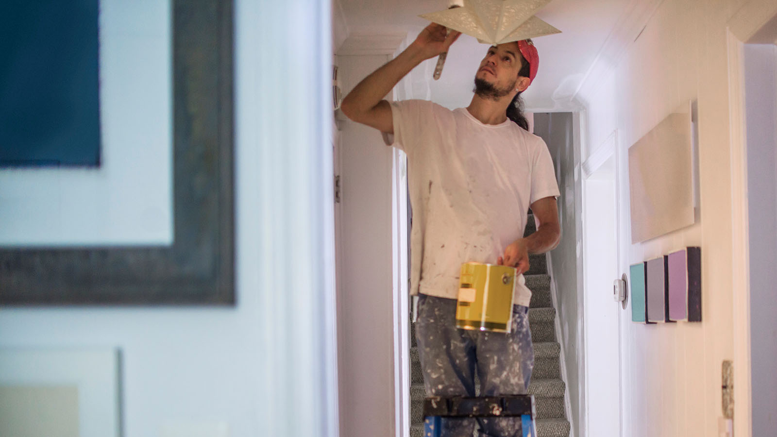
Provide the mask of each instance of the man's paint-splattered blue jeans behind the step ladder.
{"label": "man's paint-splattered blue jeans behind the step ladder", "polygon": [[[479,396],[526,394],[534,348],[531,346],[528,308],[513,307],[512,332],[481,332],[456,327],[456,300],[419,295],[416,341],[427,396]],[[521,436],[521,418],[447,418],[443,437],[479,435]]]}

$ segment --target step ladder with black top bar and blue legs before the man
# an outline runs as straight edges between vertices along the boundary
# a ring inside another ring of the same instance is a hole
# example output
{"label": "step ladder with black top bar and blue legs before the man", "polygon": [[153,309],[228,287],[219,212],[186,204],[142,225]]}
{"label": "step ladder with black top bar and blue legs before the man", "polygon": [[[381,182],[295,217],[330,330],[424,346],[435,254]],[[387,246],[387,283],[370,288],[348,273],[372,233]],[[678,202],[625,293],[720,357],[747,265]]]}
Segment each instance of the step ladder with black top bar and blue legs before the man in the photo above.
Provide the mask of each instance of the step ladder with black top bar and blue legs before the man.
{"label": "step ladder with black top bar and blue legs before the man", "polygon": [[537,437],[533,395],[427,397],[423,400],[423,437],[441,435],[442,418],[521,418],[523,437]]}

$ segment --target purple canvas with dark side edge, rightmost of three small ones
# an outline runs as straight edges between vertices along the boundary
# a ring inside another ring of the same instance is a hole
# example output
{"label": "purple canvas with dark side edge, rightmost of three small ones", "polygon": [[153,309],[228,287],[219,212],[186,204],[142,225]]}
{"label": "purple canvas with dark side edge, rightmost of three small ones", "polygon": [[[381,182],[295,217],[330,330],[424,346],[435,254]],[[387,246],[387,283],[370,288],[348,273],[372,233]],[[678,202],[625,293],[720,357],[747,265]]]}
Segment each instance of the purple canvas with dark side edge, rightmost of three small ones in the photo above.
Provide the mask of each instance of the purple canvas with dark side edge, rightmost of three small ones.
{"label": "purple canvas with dark side edge, rightmost of three small ones", "polygon": [[688,247],[670,253],[669,276],[670,320],[702,321],[702,251]]}

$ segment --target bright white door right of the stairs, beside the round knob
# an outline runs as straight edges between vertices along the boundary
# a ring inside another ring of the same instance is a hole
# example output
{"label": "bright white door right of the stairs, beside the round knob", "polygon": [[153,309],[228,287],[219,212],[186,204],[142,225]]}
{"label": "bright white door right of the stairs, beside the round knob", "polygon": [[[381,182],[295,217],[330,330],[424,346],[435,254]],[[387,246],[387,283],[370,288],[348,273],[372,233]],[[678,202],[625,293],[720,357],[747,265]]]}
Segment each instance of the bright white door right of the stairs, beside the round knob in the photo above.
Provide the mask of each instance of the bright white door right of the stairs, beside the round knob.
{"label": "bright white door right of the stairs, beside the round knob", "polygon": [[[621,304],[612,297],[618,271],[615,155],[583,181],[584,435],[620,436]],[[583,437],[583,436],[580,436]]]}

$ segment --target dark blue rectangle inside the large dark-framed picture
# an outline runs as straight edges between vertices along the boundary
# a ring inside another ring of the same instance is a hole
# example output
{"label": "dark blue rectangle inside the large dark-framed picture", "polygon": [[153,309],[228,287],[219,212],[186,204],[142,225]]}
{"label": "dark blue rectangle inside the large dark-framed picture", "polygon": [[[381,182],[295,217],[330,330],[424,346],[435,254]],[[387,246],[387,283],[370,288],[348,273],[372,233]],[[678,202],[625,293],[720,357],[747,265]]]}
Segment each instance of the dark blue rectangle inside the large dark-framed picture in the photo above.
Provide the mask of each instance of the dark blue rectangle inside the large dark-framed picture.
{"label": "dark blue rectangle inside the large dark-framed picture", "polygon": [[99,166],[98,0],[5,0],[0,166]]}

